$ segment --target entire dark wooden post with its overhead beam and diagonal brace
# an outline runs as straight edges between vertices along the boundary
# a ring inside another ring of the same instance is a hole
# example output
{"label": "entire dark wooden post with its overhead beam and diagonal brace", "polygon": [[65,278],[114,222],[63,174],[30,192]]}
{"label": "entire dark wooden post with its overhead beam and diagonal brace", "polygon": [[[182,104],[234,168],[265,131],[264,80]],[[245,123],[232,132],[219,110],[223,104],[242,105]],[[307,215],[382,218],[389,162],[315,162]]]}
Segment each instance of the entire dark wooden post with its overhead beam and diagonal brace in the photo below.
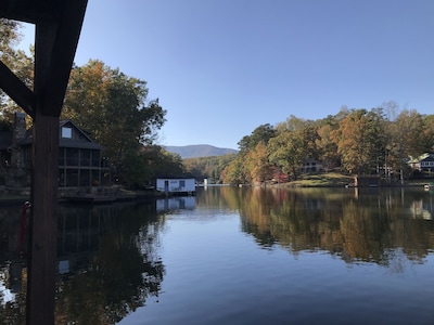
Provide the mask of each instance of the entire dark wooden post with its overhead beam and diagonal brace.
{"label": "entire dark wooden post with its overhead beam and diagonal brace", "polygon": [[59,116],[87,2],[0,0],[0,17],[36,25],[34,91],[0,62],[0,88],[34,118],[28,325],[54,324]]}

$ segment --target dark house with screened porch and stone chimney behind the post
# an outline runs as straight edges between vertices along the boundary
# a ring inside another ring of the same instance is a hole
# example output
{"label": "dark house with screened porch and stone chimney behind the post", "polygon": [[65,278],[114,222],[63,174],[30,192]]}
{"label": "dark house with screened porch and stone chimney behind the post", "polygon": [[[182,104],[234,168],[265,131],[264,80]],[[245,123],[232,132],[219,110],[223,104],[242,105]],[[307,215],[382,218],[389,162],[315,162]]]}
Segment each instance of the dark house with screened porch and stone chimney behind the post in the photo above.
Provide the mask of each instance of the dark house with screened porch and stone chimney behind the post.
{"label": "dark house with screened porch and stone chimney behind the post", "polygon": [[[5,183],[12,187],[30,184],[33,132],[26,130],[26,115],[15,114],[10,141],[2,142],[0,165]],[[101,155],[102,146],[72,120],[59,125],[59,186],[110,185],[110,169]]]}

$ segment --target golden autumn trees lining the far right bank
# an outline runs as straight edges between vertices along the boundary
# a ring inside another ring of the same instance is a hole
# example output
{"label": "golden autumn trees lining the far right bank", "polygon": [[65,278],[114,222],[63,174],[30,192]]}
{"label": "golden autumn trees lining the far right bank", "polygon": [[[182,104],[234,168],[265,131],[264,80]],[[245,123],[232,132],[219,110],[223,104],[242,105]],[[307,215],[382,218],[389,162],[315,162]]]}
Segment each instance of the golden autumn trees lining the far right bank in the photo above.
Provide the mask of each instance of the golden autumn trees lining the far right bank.
{"label": "golden autumn trees lining the far right bank", "polygon": [[404,179],[411,172],[410,157],[434,150],[434,115],[399,110],[394,102],[370,110],[343,107],[318,120],[290,116],[276,127],[261,125],[238,144],[240,152],[222,171],[225,183],[281,174],[295,180],[307,159],[320,161],[326,171]]}

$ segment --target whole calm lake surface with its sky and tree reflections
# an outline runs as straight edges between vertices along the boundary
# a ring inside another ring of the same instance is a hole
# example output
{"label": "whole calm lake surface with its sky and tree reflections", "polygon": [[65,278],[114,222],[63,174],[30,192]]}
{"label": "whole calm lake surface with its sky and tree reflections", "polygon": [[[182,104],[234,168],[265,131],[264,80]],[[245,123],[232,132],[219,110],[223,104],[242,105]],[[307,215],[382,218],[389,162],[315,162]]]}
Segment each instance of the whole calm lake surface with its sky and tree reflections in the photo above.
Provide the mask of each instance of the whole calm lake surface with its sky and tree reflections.
{"label": "whole calm lake surface with its sky and tree reflections", "polygon": [[[61,206],[56,324],[434,324],[433,196],[216,186]],[[20,214],[0,207],[3,324],[24,318]]]}

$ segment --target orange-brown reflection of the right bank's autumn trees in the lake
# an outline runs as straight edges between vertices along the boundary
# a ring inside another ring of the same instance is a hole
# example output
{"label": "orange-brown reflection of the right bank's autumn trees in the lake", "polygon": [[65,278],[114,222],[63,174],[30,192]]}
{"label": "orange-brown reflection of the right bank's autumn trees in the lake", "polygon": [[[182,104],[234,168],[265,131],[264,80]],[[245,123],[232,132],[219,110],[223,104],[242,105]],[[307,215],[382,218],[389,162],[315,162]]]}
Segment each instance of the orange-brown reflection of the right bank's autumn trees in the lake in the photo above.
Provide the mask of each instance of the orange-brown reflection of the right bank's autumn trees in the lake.
{"label": "orange-brown reflection of the right bank's autumn trees in the lake", "polygon": [[347,262],[390,265],[400,253],[423,263],[434,248],[432,194],[423,190],[225,187],[221,199],[266,249],[328,250]]}

